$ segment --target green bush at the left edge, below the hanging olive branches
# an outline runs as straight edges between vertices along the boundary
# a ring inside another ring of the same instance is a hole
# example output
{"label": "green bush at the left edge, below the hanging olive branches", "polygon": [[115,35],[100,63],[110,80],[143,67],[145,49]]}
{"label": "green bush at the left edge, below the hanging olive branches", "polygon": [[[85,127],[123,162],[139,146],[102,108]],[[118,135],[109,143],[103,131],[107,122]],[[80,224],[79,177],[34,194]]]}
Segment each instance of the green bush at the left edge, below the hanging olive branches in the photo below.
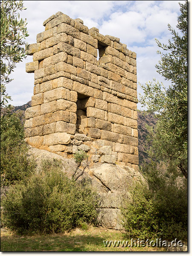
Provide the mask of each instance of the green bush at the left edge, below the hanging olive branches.
{"label": "green bush at the left edge, below the hanging olive branches", "polygon": [[34,169],[35,163],[27,157],[24,128],[18,114],[1,116],[1,188],[23,180]]}

